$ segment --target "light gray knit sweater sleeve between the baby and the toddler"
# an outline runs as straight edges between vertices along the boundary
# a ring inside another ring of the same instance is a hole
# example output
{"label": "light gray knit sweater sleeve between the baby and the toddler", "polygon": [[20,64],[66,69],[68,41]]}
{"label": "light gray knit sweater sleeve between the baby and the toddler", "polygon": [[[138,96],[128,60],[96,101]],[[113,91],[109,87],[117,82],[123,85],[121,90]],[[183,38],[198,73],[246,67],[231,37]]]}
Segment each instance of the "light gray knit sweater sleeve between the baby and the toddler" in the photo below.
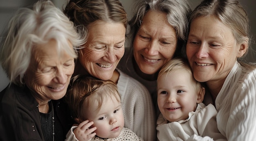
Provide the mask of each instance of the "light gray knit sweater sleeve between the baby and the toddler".
{"label": "light gray knit sweater sleeve between the baby and the toddler", "polygon": [[118,91],[124,113],[124,127],[145,141],[156,141],[156,117],[153,103],[144,85],[119,69]]}

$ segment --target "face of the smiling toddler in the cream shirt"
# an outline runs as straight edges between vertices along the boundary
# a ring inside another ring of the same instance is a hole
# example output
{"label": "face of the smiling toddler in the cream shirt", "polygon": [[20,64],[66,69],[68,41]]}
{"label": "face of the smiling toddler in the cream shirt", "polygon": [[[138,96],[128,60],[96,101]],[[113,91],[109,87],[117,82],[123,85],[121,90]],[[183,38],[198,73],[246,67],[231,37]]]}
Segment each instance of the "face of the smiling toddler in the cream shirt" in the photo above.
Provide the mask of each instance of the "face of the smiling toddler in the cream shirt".
{"label": "face of the smiling toddler in the cream shirt", "polygon": [[195,111],[202,102],[204,91],[196,89],[195,80],[184,68],[175,69],[157,79],[157,104],[160,112],[170,122],[180,121]]}

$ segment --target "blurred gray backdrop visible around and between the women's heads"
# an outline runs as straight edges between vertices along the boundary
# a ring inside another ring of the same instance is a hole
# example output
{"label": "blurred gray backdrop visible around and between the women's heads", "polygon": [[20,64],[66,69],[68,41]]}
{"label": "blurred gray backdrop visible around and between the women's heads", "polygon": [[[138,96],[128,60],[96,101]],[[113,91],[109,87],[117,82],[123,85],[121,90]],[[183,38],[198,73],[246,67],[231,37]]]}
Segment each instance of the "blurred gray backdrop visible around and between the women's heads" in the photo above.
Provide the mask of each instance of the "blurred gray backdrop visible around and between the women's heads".
{"label": "blurred gray backdrop visible around and between the women's heads", "polygon": [[[28,5],[34,4],[37,0],[0,0],[0,33],[3,32],[4,29],[7,28],[7,22],[9,21],[11,15],[15,13],[15,11],[19,7],[27,7]],[[132,16],[132,5],[136,0],[120,0],[121,3],[124,5],[124,8],[126,12],[128,13],[128,18]],[[52,0],[52,2],[58,7],[59,9],[62,9],[63,6],[67,4],[67,0]],[[191,4],[192,10],[200,4],[201,0],[189,0]],[[240,0],[240,3],[243,5],[243,7],[246,9],[249,20],[250,20],[250,26],[251,26],[251,35],[252,35],[252,48],[254,51],[250,51],[247,54],[247,57],[245,60],[247,62],[256,62],[256,44],[254,43],[254,38],[256,36],[256,9],[255,6],[255,0]],[[5,74],[5,72],[2,70],[2,67],[0,66],[0,91],[4,89],[9,83],[9,80]]]}

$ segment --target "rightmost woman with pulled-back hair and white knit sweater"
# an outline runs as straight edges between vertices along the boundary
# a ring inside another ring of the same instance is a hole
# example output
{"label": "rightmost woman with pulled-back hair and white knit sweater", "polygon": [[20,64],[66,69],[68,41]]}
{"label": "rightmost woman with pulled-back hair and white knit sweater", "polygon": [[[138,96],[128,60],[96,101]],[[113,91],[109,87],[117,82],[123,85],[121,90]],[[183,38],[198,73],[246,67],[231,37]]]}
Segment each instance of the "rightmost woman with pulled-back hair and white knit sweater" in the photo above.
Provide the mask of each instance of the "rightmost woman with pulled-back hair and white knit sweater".
{"label": "rightmost woman with pulled-back hair and white knit sweater", "polygon": [[256,138],[256,63],[240,61],[249,44],[249,20],[238,0],[204,0],[191,13],[186,54],[228,141]]}

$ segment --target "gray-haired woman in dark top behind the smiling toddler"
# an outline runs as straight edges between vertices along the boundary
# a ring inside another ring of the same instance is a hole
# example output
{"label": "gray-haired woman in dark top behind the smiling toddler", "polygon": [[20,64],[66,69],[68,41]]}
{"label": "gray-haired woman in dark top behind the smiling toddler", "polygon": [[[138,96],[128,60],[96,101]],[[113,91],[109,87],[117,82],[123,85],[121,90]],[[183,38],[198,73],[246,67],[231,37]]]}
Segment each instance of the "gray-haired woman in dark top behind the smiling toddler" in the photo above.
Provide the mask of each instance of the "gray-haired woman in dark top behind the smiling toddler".
{"label": "gray-haired woman in dark top behind the smiling toddler", "polygon": [[[146,86],[157,111],[157,75],[161,67],[182,55],[186,41],[187,0],[138,0],[129,21],[130,43],[118,68]],[[158,112],[159,113],[159,112]]]}

